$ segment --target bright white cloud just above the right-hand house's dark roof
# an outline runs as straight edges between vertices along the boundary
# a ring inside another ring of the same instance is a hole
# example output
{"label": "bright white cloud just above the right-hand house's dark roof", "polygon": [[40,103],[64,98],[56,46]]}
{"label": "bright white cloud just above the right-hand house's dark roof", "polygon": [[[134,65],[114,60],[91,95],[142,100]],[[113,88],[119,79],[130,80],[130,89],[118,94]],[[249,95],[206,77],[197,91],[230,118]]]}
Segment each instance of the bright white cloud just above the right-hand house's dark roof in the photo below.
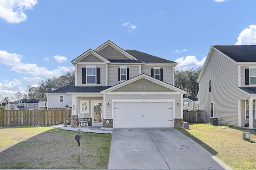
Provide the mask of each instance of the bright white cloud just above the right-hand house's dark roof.
{"label": "bright white cloud just above the right-hand house's dark roof", "polygon": [[256,45],[256,25],[242,30],[235,45]]}

